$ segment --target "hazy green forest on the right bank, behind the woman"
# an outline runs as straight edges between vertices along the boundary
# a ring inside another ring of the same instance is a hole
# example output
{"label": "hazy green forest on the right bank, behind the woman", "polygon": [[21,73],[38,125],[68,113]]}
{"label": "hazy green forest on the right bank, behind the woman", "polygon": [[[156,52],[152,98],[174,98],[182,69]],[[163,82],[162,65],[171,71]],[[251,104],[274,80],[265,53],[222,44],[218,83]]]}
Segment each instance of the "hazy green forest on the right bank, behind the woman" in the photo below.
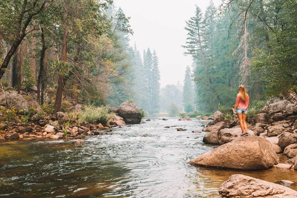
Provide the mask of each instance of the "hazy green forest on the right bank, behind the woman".
{"label": "hazy green forest on the right bank, behind the woman", "polygon": [[296,0],[212,1],[186,22],[197,110],[232,107],[243,84],[252,102],[296,94]]}

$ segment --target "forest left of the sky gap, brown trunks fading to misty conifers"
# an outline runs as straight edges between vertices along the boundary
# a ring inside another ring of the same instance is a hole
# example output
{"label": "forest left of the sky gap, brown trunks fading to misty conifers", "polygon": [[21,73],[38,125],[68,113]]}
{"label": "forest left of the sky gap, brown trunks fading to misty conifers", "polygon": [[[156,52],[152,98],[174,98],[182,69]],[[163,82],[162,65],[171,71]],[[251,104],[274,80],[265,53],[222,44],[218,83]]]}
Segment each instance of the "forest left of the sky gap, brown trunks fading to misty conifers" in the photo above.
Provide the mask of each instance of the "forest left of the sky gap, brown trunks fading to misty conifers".
{"label": "forest left of the sky gap, brown trunks fading to misty conifers", "polygon": [[[127,17],[111,0],[1,1],[0,78],[4,87],[37,92],[57,112],[65,99],[118,107],[133,100],[158,111],[155,50],[129,46]],[[55,97],[47,97],[49,89]]]}

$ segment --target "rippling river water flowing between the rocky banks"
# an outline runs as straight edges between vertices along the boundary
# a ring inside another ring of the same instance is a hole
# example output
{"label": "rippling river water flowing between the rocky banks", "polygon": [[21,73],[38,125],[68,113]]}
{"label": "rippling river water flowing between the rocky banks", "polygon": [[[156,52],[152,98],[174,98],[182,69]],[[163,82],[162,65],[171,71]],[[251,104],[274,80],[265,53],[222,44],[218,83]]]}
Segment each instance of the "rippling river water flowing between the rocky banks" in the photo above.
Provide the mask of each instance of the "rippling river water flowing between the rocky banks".
{"label": "rippling river water flowing between the rocky banks", "polygon": [[74,140],[2,142],[0,197],[218,198],[218,188],[232,174],[297,182],[297,171],[292,170],[235,171],[187,164],[215,147],[202,143],[205,132],[192,133],[206,124],[155,119],[112,128],[106,135],[88,137],[84,145],[74,145]]}

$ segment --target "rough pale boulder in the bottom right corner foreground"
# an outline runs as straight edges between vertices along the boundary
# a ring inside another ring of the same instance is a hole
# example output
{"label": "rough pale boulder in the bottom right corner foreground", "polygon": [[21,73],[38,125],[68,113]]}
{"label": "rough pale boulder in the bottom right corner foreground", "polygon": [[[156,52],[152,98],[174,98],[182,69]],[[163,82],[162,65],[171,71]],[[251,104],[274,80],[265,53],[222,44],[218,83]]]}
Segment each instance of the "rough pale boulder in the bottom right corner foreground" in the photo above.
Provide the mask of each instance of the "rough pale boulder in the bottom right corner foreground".
{"label": "rough pale boulder in the bottom right corner foreground", "polygon": [[219,189],[222,198],[296,198],[297,191],[246,175],[231,175]]}

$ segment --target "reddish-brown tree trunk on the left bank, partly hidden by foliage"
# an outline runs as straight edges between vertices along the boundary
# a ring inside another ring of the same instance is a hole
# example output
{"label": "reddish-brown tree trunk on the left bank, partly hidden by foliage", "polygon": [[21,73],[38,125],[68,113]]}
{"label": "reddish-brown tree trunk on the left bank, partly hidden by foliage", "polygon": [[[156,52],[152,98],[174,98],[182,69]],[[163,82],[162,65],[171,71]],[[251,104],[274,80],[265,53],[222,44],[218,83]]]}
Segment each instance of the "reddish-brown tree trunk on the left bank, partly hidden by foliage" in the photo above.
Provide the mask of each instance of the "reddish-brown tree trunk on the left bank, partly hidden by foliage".
{"label": "reddish-brown tree trunk on the left bank, partly hidden by foliage", "polygon": [[[66,62],[67,60],[67,37],[68,37],[68,29],[67,24],[64,27],[64,38],[63,38],[63,49],[62,49],[62,61]],[[59,75],[58,79],[58,89],[56,93],[56,98],[54,101],[54,112],[58,112],[61,108],[63,89],[64,89],[64,79],[63,75]]]}

